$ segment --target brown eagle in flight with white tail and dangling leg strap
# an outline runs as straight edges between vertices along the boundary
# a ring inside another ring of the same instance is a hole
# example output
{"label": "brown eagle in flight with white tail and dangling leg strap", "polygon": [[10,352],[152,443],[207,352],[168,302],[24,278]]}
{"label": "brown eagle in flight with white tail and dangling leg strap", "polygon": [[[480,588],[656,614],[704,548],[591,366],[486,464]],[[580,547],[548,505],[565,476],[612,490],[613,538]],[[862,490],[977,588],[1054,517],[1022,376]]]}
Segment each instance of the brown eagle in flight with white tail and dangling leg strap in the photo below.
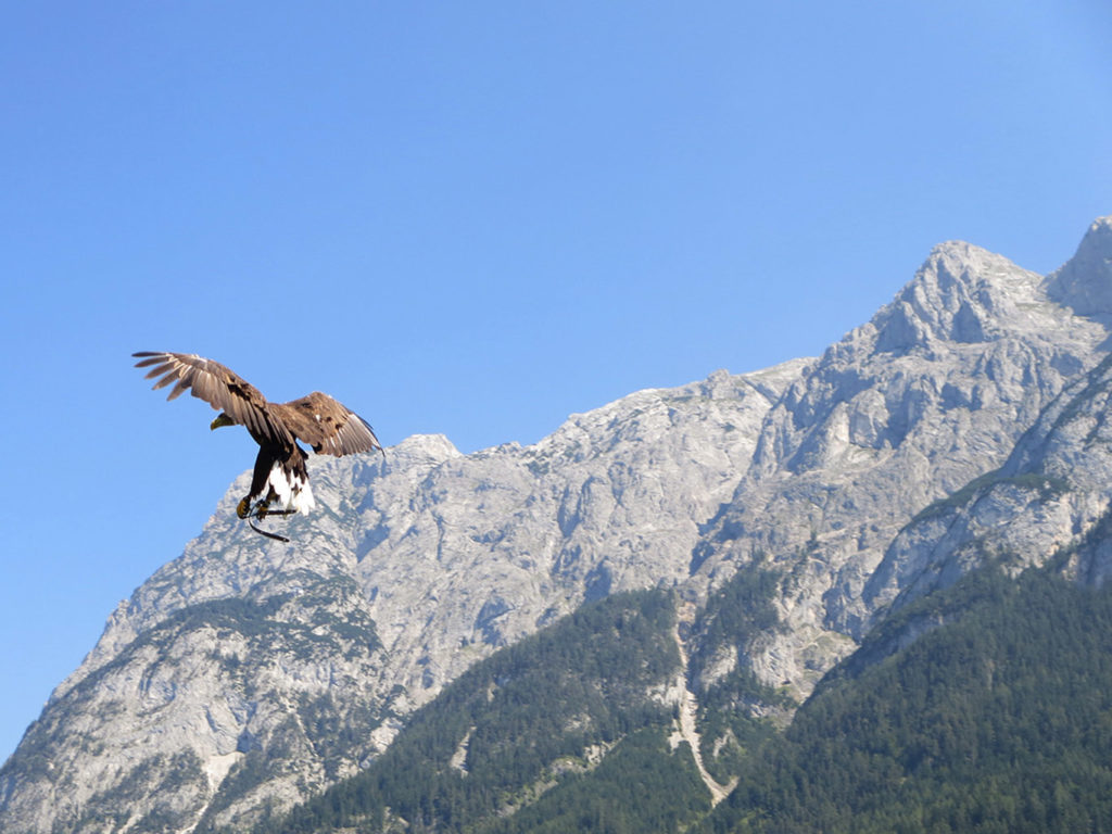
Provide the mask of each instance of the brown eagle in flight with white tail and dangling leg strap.
{"label": "brown eagle in flight with white tail and dangling leg strap", "polygon": [[[148,350],[132,356],[139,359],[137,368],[153,366],[147,379],[160,377],[155,383],[156,389],[175,383],[168,400],[188,388],[195,397],[220,411],[210,428],[244,426],[259,445],[251,489],[236,507],[240,518],[261,519],[268,512],[308,512],[316,506],[305,465],[308,455],[298,440],[307,443],[317,454],[337,457],[383,451],[370,425],[327,394],[314,391],[289,403],[268,403],[255,386],[211,359]],[[276,502],[281,509],[270,508]]]}

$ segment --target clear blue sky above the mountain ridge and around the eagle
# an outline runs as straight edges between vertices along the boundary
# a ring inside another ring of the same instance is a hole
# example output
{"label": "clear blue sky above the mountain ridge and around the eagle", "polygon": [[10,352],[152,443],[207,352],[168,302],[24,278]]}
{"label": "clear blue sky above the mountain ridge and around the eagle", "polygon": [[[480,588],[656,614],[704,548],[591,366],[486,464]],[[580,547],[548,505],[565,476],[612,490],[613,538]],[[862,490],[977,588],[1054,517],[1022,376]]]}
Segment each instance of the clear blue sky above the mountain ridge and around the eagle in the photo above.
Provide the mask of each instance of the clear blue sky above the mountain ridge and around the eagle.
{"label": "clear blue sky above the mountain ridge and around the eagle", "polygon": [[814,355],[1112,212],[1112,6],[8,3],[0,758],[248,468],[133,350],[387,445]]}

